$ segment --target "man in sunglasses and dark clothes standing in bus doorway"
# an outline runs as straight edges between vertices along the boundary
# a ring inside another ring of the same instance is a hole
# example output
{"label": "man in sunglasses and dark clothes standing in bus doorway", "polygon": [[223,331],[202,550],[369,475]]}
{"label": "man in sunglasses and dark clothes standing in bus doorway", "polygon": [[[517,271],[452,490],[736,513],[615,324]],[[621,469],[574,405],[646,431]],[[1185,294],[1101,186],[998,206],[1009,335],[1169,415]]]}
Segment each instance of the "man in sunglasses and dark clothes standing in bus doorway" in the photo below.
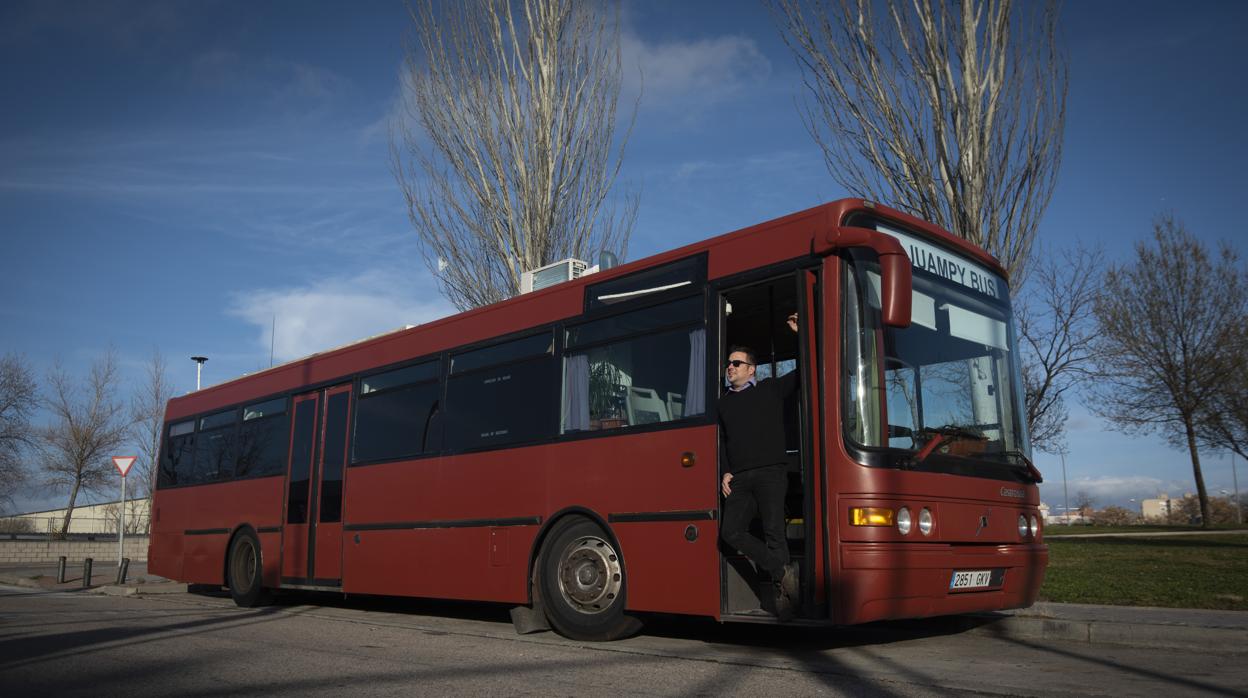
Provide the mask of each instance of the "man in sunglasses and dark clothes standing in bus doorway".
{"label": "man in sunglasses and dark clothes standing in bus doorway", "polygon": [[[797,331],[797,313],[789,316]],[[734,346],[728,355],[728,391],[719,400],[719,425],[724,438],[724,542],[750,558],[771,581],[776,616],[792,617],[797,601],[797,574],[789,564],[785,539],[784,497],[789,487],[785,468],[784,403],[797,387],[797,372],[755,381],[755,356],[749,347]],[[764,539],[750,534],[755,514]]]}

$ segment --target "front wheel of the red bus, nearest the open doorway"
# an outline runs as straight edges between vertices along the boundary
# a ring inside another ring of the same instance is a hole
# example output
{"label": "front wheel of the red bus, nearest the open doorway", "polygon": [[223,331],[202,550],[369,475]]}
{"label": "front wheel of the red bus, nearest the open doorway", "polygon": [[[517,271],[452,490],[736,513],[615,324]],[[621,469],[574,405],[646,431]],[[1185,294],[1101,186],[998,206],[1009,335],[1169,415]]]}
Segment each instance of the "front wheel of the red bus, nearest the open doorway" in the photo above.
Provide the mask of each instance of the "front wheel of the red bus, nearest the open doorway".
{"label": "front wheel of the red bus, nearest the open doorway", "polygon": [[564,637],[609,642],[641,627],[624,613],[624,562],[589,519],[568,517],[555,524],[542,546],[535,586],[547,618]]}

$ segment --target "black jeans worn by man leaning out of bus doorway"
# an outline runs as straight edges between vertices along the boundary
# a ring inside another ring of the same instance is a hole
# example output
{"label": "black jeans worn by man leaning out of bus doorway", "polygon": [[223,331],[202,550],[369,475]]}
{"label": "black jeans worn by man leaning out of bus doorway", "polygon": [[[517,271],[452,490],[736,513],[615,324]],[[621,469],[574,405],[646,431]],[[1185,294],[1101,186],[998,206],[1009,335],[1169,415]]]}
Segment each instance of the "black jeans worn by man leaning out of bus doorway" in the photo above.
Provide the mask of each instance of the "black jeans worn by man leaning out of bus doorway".
{"label": "black jeans worn by man leaning out of bus doorway", "polygon": [[[789,564],[789,543],[784,529],[784,496],[789,473],[784,463],[733,473],[733,493],[724,499],[724,542],[745,553],[755,567],[779,581]],[[750,534],[750,522],[763,522],[764,541]]]}

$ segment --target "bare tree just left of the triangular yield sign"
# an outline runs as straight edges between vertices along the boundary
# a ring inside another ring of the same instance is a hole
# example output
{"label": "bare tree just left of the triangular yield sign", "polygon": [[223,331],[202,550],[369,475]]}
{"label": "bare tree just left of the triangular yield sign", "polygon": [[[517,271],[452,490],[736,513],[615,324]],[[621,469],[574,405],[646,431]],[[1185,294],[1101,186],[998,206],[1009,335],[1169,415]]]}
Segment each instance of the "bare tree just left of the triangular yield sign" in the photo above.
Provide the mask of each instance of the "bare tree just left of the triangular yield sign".
{"label": "bare tree just left of the triangular yield sign", "polygon": [[47,375],[44,407],[51,418],[37,435],[47,484],[69,488],[60,536],[70,529],[79,493],[95,492],[112,482],[116,471],[109,458],[117,455],[130,428],[125,408],[116,398],[117,390],[117,356],[112,350],[91,365],[81,382],[60,362]]}

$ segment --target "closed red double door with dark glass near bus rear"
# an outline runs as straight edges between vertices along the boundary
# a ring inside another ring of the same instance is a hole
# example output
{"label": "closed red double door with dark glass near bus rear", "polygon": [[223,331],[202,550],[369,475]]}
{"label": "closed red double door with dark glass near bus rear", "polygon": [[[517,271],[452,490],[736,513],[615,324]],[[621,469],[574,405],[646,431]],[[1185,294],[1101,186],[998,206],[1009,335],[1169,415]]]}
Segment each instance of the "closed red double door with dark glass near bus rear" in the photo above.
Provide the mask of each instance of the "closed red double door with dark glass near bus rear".
{"label": "closed red double door with dark glass near bus rear", "polygon": [[296,396],[282,583],[342,586],[342,483],[351,385]]}

